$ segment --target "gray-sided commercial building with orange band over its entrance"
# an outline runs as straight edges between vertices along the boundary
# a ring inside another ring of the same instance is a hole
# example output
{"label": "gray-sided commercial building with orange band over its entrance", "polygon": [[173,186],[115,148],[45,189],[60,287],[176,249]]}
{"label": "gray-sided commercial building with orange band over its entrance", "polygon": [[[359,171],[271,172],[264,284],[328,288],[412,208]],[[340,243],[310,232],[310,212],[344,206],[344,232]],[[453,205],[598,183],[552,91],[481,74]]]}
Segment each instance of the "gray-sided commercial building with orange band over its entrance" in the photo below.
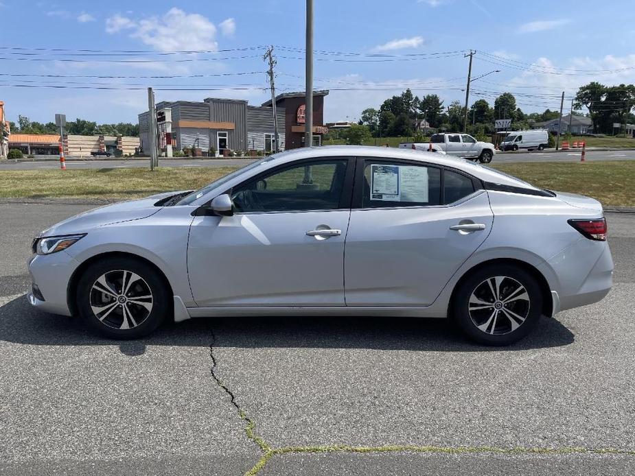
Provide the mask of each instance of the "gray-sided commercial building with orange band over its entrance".
{"label": "gray-sided commercial building with orange band over its entrance", "polygon": [[[171,143],[175,150],[196,147],[216,154],[224,150],[273,150],[275,136],[270,107],[248,106],[242,99],[207,98],[203,102],[159,102],[157,111],[170,109]],[[280,149],[284,150],[284,108],[278,108]],[[141,148],[150,143],[148,112],[139,114]],[[165,137],[162,138],[165,143]],[[161,142],[161,141],[160,141]],[[147,151],[146,151],[147,152]]]}

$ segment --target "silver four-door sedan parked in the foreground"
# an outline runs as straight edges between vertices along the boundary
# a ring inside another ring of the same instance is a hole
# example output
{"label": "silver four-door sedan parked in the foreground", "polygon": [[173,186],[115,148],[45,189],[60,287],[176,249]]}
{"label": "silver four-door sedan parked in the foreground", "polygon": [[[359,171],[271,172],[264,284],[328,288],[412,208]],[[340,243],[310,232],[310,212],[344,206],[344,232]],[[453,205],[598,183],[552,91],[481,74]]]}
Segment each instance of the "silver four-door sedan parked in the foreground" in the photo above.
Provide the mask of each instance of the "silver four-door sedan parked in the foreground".
{"label": "silver four-door sedan parked in the foreground", "polygon": [[[601,204],[441,154],[311,147],[34,239],[34,307],[117,339],[206,316],[452,318],[510,344],[601,300]],[[360,321],[360,326],[363,321]]]}

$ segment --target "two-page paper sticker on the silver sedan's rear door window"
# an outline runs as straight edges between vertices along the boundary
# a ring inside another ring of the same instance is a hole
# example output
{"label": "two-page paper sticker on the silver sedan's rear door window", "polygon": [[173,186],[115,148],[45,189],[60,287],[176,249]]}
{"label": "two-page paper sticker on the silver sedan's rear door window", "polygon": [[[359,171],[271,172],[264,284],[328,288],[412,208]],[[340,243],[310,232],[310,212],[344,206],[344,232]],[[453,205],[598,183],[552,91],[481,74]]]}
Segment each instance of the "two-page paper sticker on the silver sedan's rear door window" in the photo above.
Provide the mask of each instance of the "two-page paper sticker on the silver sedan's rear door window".
{"label": "two-page paper sticker on the silver sedan's rear door window", "polygon": [[371,165],[371,200],[427,203],[428,168]]}

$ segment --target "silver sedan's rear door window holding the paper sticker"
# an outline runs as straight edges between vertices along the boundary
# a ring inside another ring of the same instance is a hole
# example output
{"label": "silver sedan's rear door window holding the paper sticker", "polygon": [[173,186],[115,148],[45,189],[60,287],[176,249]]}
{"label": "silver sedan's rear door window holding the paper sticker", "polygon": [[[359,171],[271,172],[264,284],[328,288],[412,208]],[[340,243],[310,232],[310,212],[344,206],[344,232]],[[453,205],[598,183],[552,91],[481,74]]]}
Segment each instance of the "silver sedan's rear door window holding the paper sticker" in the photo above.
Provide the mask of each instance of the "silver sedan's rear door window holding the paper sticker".
{"label": "silver sedan's rear door window holding the paper sticker", "polygon": [[440,203],[440,169],[366,160],[362,208],[430,206]]}

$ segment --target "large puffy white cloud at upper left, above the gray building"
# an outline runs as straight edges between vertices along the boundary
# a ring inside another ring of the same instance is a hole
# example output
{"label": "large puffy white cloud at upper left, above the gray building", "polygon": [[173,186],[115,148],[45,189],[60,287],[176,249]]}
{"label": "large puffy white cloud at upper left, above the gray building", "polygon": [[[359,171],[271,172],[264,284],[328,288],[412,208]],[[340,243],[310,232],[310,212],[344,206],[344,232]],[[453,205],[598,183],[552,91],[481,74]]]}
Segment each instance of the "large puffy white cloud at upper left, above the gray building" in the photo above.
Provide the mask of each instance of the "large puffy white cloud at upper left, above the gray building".
{"label": "large puffy white cloud at upper left, above the gray building", "polygon": [[117,33],[124,29],[134,29],[132,38],[158,51],[215,50],[218,49],[216,26],[198,13],[185,13],[171,8],[163,16],[150,16],[132,20],[116,14],[106,20],[106,32]]}

